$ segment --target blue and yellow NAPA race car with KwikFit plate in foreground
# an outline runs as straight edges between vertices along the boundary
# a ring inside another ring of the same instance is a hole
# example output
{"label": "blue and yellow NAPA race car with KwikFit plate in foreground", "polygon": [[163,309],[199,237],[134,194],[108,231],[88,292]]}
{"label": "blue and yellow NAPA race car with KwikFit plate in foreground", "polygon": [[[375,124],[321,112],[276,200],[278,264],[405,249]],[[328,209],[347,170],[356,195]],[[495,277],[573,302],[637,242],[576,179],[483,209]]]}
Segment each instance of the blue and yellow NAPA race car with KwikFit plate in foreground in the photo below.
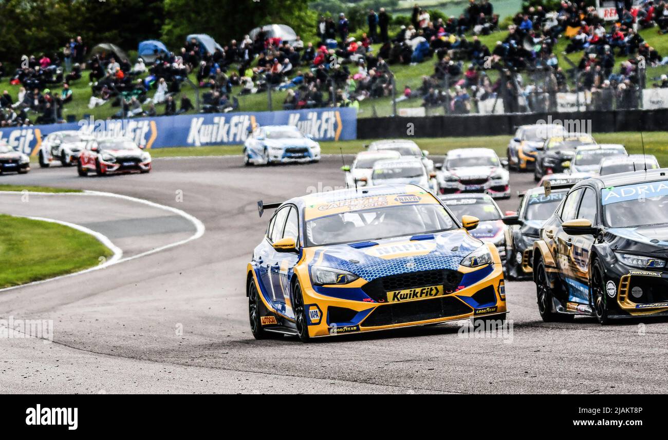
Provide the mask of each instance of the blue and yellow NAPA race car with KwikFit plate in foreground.
{"label": "blue and yellow NAPA race car with KwikFit plate in foreground", "polygon": [[506,292],[494,244],[416,185],[371,186],[259,202],[277,208],[246,274],[251,329],[312,337],[503,320]]}

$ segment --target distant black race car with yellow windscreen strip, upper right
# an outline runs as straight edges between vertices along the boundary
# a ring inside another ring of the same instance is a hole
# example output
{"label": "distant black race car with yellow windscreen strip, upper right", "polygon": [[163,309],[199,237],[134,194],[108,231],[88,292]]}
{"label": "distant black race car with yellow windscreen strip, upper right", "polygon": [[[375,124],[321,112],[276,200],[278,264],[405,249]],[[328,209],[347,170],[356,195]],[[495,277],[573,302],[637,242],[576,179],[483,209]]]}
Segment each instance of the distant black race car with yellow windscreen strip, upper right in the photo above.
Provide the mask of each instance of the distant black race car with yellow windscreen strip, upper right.
{"label": "distant black race car with yellow windscreen strip, upper right", "polygon": [[568,133],[548,138],[538,148],[534,180],[538,182],[546,174],[557,174],[568,170],[570,161],[575,156],[575,149],[581,145],[591,144],[596,144],[596,141],[586,133]]}

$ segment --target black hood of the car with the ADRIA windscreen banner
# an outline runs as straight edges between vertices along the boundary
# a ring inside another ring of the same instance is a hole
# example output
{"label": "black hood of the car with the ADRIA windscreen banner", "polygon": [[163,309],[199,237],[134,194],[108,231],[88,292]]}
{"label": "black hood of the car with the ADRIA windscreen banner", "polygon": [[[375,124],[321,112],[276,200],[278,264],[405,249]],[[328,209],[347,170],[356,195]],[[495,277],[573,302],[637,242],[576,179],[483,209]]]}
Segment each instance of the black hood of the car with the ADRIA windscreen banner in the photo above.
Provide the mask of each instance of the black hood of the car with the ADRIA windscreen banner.
{"label": "black hood of the car with the ADRIA windscreen banner", "polygon": [[668,255],[668,224],[642,226],[641,228],[610,228],[609,242],[615,250],[635,252],[641,255]]}

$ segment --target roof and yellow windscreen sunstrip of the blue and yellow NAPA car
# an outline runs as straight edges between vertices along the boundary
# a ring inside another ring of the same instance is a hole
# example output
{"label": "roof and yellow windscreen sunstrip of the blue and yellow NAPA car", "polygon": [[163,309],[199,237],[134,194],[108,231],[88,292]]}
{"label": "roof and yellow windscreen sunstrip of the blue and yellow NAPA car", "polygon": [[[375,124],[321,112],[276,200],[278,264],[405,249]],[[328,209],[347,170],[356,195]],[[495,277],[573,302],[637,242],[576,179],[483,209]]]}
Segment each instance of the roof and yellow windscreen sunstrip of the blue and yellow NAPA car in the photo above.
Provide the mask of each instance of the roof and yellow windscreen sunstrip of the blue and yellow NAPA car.
{"label": "roof and yellow windscreen sunstrip of the blue and yellow NAPA car", "polygon": [[430,192],[417,185],[379,185],[363,188],[349,188],[318,192],[293,198],[286,203],[294,203],[304,210],[304,219],[313,220],[331,214],[339,214],[382,206],[402,204],[434,204],[438,200]]}

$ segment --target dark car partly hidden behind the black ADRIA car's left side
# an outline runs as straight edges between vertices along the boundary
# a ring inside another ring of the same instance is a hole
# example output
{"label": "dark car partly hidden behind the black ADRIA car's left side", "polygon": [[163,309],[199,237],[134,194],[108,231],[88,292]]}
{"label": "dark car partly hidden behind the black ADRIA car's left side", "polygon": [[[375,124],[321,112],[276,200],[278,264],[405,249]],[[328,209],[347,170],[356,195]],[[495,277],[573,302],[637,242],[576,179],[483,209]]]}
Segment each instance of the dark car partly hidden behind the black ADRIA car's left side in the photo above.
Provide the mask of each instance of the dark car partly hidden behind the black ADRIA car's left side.
{"label": "dark car partly hidden behind the black ADRIA car's left side", "polygon": [[[542,224],[559,206],[568,193],[571,184],[560,184],[557,189],[545,194],[544,188],[531,188],[523,194],[518,214],[506,216],[502,220],[506,227],[506,276],[510,279],[530,278],[530,256],[534,251],[534,242]],[[555,187],[556,188],[556,187]]]}

